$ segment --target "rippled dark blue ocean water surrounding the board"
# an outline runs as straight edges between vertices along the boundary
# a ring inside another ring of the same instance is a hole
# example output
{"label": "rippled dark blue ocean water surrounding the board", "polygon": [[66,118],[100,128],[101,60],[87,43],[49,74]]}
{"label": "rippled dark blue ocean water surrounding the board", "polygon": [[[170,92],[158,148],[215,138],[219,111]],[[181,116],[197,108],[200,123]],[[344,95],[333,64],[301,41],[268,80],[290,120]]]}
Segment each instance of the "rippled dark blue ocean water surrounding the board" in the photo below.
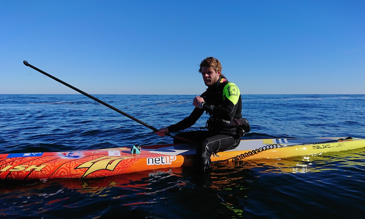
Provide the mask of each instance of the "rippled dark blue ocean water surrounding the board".
{"label": "rippled dark blue ocean water surrounding the board", "polygon": [[[161,128],[193,95],[95,95]],[[365,95],[242,95],[247,139],[365,138]],[[207,115],[189,130],[203,127]],[[177,133],[173,133],[177,134]],[[0,153],[172,143],[83,95],[0,95]],[[96,179],[0,181],[1,218],[363,218],[365,149]]]}

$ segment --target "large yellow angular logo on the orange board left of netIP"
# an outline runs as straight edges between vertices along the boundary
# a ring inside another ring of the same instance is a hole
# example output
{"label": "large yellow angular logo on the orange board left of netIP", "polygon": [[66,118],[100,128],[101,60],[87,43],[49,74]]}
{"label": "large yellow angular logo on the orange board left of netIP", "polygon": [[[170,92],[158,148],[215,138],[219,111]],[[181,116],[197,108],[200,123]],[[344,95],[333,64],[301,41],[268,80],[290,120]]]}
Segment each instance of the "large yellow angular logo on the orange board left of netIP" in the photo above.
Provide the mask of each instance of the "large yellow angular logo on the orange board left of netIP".
{"label": "large yellow angular logo on the orange board left of netIP", "polygon": [[115,169],[116,165],[118,165],[120,161],[130,159],[130,158],[135,158],[135,156],[125,156],[125,157],[103,156],[103,157],[99,157],[99,158],[96,158],[94,160],[85,162],[85,163],[81,164],[80,166],[78,166],[75,169],[89,168],[84,173],[84,175],[81,177],[81,178],[84,178],[87,175],[89,175],[89,174],[91,174],[95,171],[98,171],[98,170],[113,171]]}

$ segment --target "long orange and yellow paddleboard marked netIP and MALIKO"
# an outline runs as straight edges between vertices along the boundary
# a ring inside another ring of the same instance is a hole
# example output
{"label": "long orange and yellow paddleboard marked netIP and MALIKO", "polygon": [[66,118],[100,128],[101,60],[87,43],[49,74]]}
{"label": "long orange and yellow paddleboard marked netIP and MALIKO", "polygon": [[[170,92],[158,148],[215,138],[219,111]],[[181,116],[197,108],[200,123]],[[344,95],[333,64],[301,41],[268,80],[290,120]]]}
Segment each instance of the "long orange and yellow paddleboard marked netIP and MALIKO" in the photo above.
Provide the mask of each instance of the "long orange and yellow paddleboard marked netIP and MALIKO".
{"label": "long orange and yellow paddleboard marked netIP and MALIKO", "polygon": [[[365,147],[361,138],[247,139],[237,148],[218,152],[212,161],[280,159]],[[130,146],[112,149],[0,154],[0,179],[96,178],[143,170],[193,165],[193,145]]]}

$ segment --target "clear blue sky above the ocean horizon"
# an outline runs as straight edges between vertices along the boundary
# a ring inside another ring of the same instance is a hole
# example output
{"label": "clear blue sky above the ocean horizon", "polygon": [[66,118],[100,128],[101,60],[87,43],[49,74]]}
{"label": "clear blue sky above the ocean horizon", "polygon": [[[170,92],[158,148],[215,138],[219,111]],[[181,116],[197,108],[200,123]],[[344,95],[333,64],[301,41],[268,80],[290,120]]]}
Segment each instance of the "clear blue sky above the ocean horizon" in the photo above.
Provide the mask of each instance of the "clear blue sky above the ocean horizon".
{"label": "clear blue sky above the ocean horizon", "polygon": [[364,0],[0,1],[0,94],[365,94]]}

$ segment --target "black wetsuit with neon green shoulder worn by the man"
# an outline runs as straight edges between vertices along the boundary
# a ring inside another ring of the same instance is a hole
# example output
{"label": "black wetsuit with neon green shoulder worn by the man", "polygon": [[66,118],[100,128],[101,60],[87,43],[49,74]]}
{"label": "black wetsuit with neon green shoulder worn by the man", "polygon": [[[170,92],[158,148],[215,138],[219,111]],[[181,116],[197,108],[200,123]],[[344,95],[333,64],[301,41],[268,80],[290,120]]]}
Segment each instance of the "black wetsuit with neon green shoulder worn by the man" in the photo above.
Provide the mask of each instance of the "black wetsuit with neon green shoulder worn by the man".
{"label": "black wetsuit with neon green shoulder worn by the man", "polygon": [[[210,157],[218,151],[234,149],[241,140],[241,134],[234,125],[234,118],[242,118],[242,100],[238,87],[226,78],[220,78],[201,95],[205,103],[203,108],[195,107],[193,112],[180,122],[169,126],[169,132],[191,127],[207,111],[208,130],[189,131],[178,134],[178,137],[198,142],[196,155],[201,157],[205,167],[210,166]],[[174,139],[174,143],[185,143]]]}

